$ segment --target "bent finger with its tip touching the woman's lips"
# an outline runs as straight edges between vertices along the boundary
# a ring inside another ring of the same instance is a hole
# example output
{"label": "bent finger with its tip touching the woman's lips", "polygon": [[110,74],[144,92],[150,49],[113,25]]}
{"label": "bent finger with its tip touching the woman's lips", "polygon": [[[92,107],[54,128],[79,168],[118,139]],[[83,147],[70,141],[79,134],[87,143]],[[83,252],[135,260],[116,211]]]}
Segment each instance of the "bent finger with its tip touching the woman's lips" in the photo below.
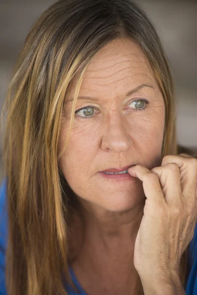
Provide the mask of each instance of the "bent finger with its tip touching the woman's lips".
{"label": "bent finger with its tip touching the woman's lips", "polygon": [[157,203],[164,202],[164,195],[158,176],[142,165],[136,165],[128,169],[129,174],[138,177],[142,181],[144,194],[147,199]]}

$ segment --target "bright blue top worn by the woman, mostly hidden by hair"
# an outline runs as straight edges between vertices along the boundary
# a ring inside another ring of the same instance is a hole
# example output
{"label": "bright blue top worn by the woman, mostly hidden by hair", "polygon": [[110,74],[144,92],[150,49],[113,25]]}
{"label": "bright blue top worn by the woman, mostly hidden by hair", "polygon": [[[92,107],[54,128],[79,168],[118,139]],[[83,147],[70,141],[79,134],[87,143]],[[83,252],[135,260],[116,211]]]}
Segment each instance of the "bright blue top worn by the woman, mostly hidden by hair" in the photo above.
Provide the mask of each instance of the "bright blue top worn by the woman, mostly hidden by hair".
{"label": "bright blue top worn by the woman, mostly hidden by hair", "polygon": [[[0,186],[0,295],[7,295],[5,287],[5,251],[7,240],[7,211],[6,211],[6,181],[3,179]],[[78,290],[78,294],[70,285],[65,284],[68,295],[86,295],[78,282],[73,269],[69,267],[72,281]],[[189,244],[187,279],[184,286],[187,295],[197,295],[197,225],[195,234]]]}

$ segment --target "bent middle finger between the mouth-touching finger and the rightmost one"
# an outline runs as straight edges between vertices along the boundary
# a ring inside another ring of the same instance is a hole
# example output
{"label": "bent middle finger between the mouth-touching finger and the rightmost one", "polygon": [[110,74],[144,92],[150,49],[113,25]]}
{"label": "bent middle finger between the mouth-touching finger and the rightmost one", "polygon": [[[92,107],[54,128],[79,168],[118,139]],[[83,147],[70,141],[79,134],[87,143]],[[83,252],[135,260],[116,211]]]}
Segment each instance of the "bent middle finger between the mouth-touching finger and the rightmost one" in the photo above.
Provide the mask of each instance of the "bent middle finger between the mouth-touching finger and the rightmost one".
{"label": "bent middle finger between the mouth-touching finger and the rightmost one", "polygon": [[151,171],[159,177],[166,203],[177,205],[182,195],[178,165],[169,163],[162,167],[155,167]]}

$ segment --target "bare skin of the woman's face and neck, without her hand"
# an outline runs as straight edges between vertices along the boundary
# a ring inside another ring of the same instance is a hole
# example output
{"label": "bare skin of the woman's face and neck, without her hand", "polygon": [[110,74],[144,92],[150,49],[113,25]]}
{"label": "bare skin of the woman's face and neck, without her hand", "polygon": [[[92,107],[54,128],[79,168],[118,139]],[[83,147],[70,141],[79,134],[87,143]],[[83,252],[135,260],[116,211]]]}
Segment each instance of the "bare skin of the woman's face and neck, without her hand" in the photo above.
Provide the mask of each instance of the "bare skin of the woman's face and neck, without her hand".
{"label": "bare skin of the woman's face and neck, without her hand", "polygon": [[[141,84],[153,86],[126,93]],[[74,89],[74,88],[73,88]],[[68,99],[73,97],[70,91]],[[85,72],[75,111],[92,106],[75,117],[70,140],[59,161],[76,194],[85,218],[85,242],[72,267],[88,294],[143,294],[133,265],[134,242],[143,216],[142,181],[105,179],[108,168],[160,166],[164,136],[164,99],[140,47],[124,38],[103,47]],[[136,111],[134,100],[141,102]],[[69,129],[72,102],[63,112],[59,149]],[[85,113],[85,115],[84,115]],[[94,270],[94,271],[93,271]],[[112,271],[113,270],[113,271]],[[117,279],[118,278],[118,279]],[[134,293],[135,292],[135,293]],[[141,292],[141,293],[140,293]]]}

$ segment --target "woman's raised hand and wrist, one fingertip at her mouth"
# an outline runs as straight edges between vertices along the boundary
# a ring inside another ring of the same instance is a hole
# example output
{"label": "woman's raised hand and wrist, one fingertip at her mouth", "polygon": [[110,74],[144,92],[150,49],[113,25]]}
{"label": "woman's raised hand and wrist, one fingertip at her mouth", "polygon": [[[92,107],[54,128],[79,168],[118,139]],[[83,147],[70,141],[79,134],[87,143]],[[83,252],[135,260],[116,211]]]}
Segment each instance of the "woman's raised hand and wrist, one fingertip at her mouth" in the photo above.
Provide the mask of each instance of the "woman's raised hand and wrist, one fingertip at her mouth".
{"label": "woman's raised hand and wrist, one fingertip at her mouth", "polygon": [[128,169],[142,181],[144,215],[134,245],[134,266],[144,282],[179,276],[180,259],[197,222],[197,159],[166,155],[161,167]]}

